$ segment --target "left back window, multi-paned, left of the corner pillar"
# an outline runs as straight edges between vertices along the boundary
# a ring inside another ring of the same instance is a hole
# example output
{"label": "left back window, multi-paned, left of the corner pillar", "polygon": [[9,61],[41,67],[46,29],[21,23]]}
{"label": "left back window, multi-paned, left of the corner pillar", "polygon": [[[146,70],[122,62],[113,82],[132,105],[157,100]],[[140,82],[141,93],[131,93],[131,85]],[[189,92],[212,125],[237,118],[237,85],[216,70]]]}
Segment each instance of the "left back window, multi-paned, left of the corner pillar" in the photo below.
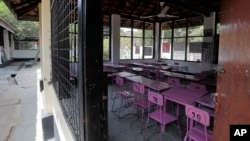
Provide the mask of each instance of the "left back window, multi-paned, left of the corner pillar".
{"label": "left back window, multi-paned, left of the corner pillar", "polygon": [[152,59],[154,52],[153,31],[153,23],[121,19],[120,59]]}

